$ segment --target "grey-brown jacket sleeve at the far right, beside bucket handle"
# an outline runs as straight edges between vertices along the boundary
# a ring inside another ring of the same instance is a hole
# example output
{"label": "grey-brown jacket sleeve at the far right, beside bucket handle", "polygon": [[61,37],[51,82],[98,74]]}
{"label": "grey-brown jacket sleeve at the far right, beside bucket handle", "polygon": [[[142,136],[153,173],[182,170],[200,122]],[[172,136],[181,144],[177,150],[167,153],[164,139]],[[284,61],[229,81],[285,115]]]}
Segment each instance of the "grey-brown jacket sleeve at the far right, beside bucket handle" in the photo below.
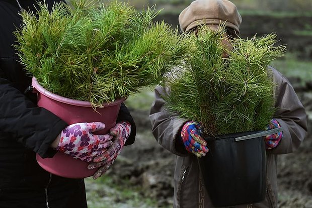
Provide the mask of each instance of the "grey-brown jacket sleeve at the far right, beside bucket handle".
{"label": "grey-brown jacket sleeve at the far right, beside bucket handle", "polygon": [[274,114],[274,119],[283,128],[283,138],[277,147],[268,152],[286,154],[296,150],[306,136],[306,114],[288,79],[274,68],[270,69],[273,71],[273,79],[276,84],[274,91],[277,111]]}

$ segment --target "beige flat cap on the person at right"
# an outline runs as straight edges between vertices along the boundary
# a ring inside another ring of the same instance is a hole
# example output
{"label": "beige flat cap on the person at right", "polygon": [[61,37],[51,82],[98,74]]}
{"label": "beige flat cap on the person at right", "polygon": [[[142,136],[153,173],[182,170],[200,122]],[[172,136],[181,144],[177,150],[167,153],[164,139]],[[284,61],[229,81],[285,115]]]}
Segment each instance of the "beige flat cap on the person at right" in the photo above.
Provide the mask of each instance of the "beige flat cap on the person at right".
{"label": "beige flat cap on the person at right", "polygon": [[182,32],[199,25],[222,25],[240,33],[242,17],[235,4],[227,0],[196,0],[179,15]]}

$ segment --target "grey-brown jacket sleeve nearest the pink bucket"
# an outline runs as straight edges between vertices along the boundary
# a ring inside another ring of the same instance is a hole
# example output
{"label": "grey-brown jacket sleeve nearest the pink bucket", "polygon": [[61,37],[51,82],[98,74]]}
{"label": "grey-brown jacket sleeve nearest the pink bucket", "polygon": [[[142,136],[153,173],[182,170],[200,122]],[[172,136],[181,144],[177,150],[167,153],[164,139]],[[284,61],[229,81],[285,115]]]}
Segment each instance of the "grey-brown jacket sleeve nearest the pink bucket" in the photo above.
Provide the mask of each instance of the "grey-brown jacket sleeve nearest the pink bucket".
{"label": "grey-brown jacket sleeve nearest the pink bucket", "polygon": [[179,134],[187,120],[181,119],[178,115],[173,115],[166,110],[165,100],[162,96],[167,93],[168,88],[162,86],[155,88],[155,100],[151,105],[149,115],[151,131],[158,143],[165,149],[179,156],[187,156],[188,153],[183,144],[177,141],[180,139]]}

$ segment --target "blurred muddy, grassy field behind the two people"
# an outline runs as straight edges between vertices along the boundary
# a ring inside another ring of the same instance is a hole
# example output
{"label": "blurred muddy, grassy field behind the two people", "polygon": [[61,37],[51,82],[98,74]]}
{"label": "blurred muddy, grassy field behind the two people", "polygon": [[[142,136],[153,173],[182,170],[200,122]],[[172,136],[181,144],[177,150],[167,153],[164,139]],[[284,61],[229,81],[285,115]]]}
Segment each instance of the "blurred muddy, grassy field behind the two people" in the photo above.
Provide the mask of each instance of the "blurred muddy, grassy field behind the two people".
{"label": "blurred muddy, grassy field behind the two people", "polygon": [[[104,0],[103,0],[104,1]],[[106,2],[106,1],[104,1]],[[141,10],[162,9],[155,21],[178,27],[179,13],[190,0],[123,1]],[[312,208],[312,1],[236,0],[242,15],[242,38],[276,33],[287,45],[284,57],[272,66],[292,83],[308,115],[308,135],[298,150],[278,161],[279,207]],[[136,142],[126,146],[100,179],[86,179],[89,208],[172,207],[175,156],[157,144],[150,133],[149,107],[153,90],[130,96],[126,105],[137,125]],[[193,207],[190,207],[193,208]]]}

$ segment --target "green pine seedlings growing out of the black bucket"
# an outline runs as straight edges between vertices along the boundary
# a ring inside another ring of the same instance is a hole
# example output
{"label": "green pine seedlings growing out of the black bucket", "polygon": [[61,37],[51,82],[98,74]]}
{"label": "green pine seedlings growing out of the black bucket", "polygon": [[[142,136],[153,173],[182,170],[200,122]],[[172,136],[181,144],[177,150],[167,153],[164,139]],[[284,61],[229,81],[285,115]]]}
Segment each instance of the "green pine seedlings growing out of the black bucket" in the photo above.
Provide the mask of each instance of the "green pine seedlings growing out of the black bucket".
{"label": "green pine seedlings growing out of the black bucket", "polygon": [[169,76],[167,108],[200,121],[206,136],[264,130],[275,110],[272,75],[266,69],[285,47],[273,46],[275,34],[235,39],[222,58],[222,34],[203,27],[198,37],[190,37],[197,52],[183,71]]}

